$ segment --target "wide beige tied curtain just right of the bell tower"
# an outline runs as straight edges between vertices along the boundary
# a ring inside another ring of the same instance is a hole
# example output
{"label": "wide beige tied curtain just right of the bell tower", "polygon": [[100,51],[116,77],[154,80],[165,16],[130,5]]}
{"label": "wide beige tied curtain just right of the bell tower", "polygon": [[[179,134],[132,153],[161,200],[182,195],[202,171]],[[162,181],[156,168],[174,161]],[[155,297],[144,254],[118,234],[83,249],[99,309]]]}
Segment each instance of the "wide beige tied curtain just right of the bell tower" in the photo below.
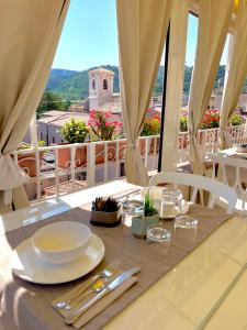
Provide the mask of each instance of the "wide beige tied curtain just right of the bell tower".
{"label": "wide beige tied curtain just right of the bell tower", "polygon": [[138,148],[160,64],[172,0],[116,0],[121,101],[127,140],[125,170],[132,184],[148,176]]}

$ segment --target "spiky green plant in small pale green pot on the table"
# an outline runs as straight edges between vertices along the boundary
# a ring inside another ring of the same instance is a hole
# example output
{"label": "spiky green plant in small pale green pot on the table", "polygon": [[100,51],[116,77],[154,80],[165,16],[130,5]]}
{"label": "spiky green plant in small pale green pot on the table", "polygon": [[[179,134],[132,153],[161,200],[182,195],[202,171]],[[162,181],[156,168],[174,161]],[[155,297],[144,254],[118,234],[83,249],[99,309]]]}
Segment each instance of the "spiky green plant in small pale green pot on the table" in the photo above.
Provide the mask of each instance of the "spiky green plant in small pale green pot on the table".
{"label": "spiky green plant in small pale green pot on the table", "polygon": [[146,239],[147,229],[153,224],[159,224],[159,215],[148,191],[144,196],[143,216],[132,218],[132,232],[137,238]]}

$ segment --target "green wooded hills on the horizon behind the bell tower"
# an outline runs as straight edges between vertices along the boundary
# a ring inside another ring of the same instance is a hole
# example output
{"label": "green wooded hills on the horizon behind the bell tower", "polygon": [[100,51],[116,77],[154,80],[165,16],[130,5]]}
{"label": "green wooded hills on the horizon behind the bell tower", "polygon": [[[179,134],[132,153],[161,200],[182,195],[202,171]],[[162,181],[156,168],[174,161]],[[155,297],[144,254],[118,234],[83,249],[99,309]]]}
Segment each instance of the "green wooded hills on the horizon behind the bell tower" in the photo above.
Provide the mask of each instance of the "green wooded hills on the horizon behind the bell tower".
{"label": "green wooded hills on the horizon behind the bell tower", "polygon": [[[120,91],[119,87],[119,67],[112,65],[102,65],[105,69],[112,70],[115,73],[114,75],[114,92]],[[79,100],[86,99],[88,97],[88,72],[91,69],[96,69],[98,67],[91,67],[88,70],[83,72],[75,72],[75,70],[66,70],[66,69],[52,69],[49,74],[49,79],[46,86],[47,90],[54,91],[60,95],[63,98],[67,100]],[[190,91],[190,82],[192,76],[193,67],[184,66],[184,85],[183,85],[183,94],[189,95]],[[215,80],[215,86],[218,84],[222,86],[224,82],[225,76],[225,66],[221,65],[218,68],[217,77]],[[158,76],[155,85],[155,95],[162,94],[162,81],[164,79],[164,66],[160,65],[158,70]]]}

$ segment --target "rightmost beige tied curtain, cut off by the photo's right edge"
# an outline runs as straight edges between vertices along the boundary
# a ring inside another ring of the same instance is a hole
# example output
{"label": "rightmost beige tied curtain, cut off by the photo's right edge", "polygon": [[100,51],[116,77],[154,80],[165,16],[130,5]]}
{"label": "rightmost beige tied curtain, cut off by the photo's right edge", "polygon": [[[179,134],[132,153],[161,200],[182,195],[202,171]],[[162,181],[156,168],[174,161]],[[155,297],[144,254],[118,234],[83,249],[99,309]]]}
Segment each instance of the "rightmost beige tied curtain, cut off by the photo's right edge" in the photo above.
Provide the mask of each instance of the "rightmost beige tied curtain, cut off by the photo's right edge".
{"label": "rightmost beige tied curtain, cut off by the photo's right edge", "polygon": [[228,131],[229,119],[234,113],[247,76],[247,3],[239,1],[233,28],[233,42],[229,70],[222,100],[221,138],[222,148],[232,146]]}

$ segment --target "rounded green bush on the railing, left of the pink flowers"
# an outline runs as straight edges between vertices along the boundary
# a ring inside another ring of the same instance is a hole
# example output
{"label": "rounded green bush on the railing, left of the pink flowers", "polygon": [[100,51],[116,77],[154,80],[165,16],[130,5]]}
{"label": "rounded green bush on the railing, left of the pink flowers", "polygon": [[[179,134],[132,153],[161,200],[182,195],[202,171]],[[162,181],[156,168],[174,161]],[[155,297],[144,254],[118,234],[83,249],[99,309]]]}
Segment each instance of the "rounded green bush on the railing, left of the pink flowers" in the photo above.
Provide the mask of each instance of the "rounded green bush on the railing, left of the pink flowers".
{"label": "rounded green bush on the railing, left of the pink flowers", "polygon": [[66,122],[61,128],[61,134],[69,143],[82,143],[85,142],[89,129],[82,120],[71,119],[70,122]]}

